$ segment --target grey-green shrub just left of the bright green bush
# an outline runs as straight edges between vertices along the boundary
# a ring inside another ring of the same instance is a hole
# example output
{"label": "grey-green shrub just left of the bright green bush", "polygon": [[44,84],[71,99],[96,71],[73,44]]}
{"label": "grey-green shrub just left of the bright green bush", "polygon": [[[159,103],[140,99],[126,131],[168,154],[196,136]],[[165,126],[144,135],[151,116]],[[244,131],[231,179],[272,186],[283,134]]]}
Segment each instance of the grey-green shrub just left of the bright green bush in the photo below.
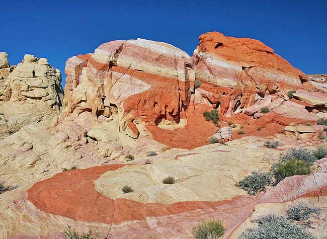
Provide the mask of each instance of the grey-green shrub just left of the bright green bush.
{"label": "grey-green shrub just left of the bright green bush", "polygon": [[272,183],[270,173],[254,171],[251,175],[239,181],[236,186],[247,191],[249,195],[256,195],[259,191],[264,191]]}

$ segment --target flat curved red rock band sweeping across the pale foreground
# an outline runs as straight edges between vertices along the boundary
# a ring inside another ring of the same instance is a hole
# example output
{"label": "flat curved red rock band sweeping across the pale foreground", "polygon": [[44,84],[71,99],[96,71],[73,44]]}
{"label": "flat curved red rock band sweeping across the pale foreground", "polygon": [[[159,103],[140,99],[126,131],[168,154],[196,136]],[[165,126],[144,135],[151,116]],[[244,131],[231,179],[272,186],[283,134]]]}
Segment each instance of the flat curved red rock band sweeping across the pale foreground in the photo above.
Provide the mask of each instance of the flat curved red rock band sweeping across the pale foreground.
{"label": "flat curved red rock band sweeping across the pale foreground", "polygon": [[[188,201],[172,204],[141,203],[118,198],[111,199],[95,190],[94,181],[109,170],[126,165],[108,165],[83,170],[70,170],[38,182],[29,189],[28,200],[44,212],[69,217],[80,221],[119,224],[124,221],[141,220],[184,212],[225,207],[246,200],[248,207],[238,205],[244,211],[251,211],[257,199],[250,196],[236,196],[217,202]],[[108,185],[109,187],[110,185]],[[237,218],[237,215],[233,215]]]}

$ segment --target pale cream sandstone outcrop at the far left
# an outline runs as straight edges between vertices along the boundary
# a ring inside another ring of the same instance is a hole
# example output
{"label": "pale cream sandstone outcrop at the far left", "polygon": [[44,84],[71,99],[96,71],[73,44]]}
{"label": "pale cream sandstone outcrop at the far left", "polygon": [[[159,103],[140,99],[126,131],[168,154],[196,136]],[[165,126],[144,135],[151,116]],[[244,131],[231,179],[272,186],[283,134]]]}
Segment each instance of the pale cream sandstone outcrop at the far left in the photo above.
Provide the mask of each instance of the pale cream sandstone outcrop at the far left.
{"label": "pale cream sandstone outcrop at the far left", "polygon": [[[47,59],[25,55],[10,66],[8,54],[0,53],[0,116],[3,134],[12,128],[53,118],[62,107],[61,73]],[[6,127],[9,127],[9,129]]]}

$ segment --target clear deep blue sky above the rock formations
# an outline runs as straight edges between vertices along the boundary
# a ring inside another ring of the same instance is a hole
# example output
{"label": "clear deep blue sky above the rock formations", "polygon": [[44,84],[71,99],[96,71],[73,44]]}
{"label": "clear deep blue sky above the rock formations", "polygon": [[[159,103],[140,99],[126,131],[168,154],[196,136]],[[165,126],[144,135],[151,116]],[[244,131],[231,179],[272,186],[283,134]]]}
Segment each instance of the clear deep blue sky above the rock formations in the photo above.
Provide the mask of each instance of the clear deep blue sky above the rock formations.
{"label": "clear deep blue sky above the rock formations", "polygon": [[327,1],[13,0],[1,1],[0,16],[0,51],[12,65],[29,53],[63,72],[73,55],[138,37],[192,55],[199,35],[218,31],[258,39],[305,73],[327,73]]}

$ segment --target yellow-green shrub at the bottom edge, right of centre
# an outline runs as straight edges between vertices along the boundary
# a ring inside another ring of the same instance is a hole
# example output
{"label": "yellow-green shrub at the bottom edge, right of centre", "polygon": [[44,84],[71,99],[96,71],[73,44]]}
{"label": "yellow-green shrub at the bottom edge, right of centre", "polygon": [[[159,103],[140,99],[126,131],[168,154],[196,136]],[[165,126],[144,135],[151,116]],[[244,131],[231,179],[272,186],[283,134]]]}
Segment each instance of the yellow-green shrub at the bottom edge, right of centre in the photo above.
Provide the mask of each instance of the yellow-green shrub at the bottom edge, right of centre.
{"label": "yellow-green shrub at the bottom edge, right of centre", "polygon": [[197,239],[216,239],[224,233],[225,227],[219,219],[201,221],[192,229],[192,234]]}

